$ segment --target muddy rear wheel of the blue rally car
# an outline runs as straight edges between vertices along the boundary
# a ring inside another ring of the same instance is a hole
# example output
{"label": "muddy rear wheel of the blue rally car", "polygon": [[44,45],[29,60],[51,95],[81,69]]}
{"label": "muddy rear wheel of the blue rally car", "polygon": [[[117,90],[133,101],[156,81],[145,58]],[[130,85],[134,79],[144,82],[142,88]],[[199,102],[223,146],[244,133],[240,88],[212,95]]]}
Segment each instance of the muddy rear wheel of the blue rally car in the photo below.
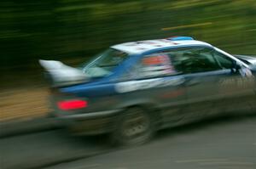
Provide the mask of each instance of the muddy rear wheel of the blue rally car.
{"label": "muddy rear wheel of the blue rally car", "polygon": [[150,115],[139,107],[132,107],[117,118],[111,140],[121,146],[144,144],[153,137],[154,131]]}

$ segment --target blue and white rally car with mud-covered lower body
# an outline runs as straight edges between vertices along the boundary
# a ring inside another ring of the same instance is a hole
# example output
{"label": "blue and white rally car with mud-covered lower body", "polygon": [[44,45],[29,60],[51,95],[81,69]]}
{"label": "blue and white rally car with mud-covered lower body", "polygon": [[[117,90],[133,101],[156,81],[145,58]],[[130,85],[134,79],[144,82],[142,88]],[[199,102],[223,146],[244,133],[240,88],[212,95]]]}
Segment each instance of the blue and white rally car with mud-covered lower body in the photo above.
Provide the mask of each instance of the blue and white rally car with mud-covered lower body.
{"label": "blue and white rally car with mud-covered lower body", "polygon": [[141,144],[154,132],[216,115],[256,112],[256,58],[192,37],[125,42],[73,68],[40,60],[56,119],[79,134]]}

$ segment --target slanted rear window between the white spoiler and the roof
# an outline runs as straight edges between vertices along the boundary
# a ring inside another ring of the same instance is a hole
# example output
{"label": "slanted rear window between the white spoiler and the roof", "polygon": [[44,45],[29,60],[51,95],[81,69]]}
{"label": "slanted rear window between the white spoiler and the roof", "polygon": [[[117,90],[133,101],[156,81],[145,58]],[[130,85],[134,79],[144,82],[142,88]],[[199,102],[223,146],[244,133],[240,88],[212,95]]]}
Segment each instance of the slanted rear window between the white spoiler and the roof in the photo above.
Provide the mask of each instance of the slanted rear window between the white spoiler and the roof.
{"label": "slanted rear window between the white spoiler and the roof", "polygon": [[108,48],[102,54],[83,66],[83,72],[90,77],[109,76],[115,67],[122,63],[128,54],[117,49]]}

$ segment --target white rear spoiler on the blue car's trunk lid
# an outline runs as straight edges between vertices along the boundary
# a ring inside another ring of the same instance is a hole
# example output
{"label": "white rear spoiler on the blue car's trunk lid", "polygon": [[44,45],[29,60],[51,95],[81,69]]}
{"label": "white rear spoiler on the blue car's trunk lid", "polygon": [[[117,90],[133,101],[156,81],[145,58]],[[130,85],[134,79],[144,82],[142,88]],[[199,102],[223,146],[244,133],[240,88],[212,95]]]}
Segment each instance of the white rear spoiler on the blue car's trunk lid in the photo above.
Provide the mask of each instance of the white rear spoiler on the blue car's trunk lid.
{"label": "white rear spoiler on the blue car's trunk lid", "polygon": [[87,82],[88,77],[82,70],[64,65],[55,60],[39,60],[40,65],[46,70],[49,82],[53,87],[63,87],[82,82]]}

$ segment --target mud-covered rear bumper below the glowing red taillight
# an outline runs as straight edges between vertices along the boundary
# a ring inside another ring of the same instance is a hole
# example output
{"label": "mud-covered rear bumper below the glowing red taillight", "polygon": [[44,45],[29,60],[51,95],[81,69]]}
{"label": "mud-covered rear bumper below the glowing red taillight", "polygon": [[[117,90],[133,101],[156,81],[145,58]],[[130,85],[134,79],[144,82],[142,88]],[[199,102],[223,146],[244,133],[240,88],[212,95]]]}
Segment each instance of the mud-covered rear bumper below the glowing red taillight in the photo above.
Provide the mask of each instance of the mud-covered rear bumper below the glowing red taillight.
{"label": "mud-covered rear bumper below the glowing red taillight", "polygon": [[120,110],[106,110],[86,114],[60,115],[54,112],[56,121],[77,135],[95,135],[113,131],[113,124]]}

